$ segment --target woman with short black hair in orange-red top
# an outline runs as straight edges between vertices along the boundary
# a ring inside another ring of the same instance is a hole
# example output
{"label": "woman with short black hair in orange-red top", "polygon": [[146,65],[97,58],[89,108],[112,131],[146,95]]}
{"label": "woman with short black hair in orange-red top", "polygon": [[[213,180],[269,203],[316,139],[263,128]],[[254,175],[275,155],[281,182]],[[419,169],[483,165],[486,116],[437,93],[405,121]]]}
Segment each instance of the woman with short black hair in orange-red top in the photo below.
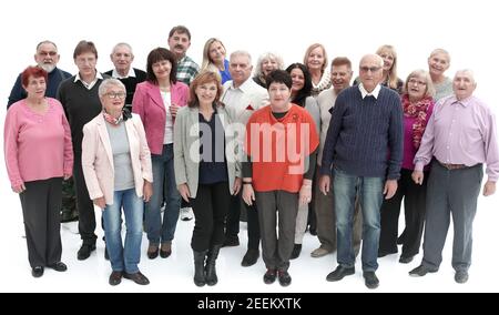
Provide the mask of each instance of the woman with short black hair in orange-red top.
{"label": "woman with short black hair in orange-red top", "polygon": [[243,164],[243,200],[248,205],[256,201],[258,209],[267,267],[264,283],[278,277],[279,284],[287,286],[296,214],[299,205],[312,200],[319,139],[310,114],[291,102],[289,73],[275,70],[266,81],[271,104],[254,112],[246,124],[249,162]]}

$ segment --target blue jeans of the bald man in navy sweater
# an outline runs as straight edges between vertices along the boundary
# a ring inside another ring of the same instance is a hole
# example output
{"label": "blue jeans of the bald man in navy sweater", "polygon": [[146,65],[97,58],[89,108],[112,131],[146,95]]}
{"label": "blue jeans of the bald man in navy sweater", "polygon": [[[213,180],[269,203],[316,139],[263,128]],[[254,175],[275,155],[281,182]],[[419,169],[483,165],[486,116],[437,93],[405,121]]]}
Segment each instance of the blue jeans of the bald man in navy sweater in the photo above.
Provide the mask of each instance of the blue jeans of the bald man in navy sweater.
{"label": "blue jeans of the bald man in navy sweater", "polygon": [[363,271],[378,268],[378,244],[380,234],[380,209],[383,203],[384,177],[361,177],[334,170],[334,194],[336,233],[338,243],[337,261],[340,266],[354,267],[353,225],[355,196],[358,193],[363,211]]}

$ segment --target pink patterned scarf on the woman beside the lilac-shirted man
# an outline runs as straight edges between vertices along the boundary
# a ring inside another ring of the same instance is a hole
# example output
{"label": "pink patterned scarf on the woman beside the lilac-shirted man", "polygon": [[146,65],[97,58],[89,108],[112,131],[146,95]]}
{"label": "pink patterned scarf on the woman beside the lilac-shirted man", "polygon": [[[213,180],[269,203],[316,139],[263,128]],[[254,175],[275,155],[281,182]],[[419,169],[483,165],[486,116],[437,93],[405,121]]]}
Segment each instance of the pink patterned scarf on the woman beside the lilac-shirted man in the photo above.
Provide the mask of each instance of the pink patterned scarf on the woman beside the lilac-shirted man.
{"label": "pink patterned scarf on the woman beside the lilac-shirted man", "polygon": [[428,109],[434,103],[431,98],[424,98],[416,103],[409,101],[409,95],[404,94],[401,99],[404,116],[415,118],[413,124],[413,144],[414,148],[419,149],[421,145],[422,133],[425,133],[426,124],[428,123]]}

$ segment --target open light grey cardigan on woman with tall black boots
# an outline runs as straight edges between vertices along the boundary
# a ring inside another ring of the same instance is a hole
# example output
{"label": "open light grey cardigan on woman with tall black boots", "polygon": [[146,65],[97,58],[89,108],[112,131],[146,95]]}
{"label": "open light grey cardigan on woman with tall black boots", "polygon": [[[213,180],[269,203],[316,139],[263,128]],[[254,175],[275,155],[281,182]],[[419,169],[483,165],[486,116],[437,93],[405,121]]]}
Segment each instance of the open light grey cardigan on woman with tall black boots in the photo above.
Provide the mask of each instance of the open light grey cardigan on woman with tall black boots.
{"label": "open light grey cardigan on woman with tall black boots", "polygon": [[[195,197],[200,179],[200,110],[182,108],[176,113],[173,132],[173,160],[176,185],[187,184],[191,197]],[[237,133],[232,130],[232,115],[218,106],[217,114],[225,131],[225,158],[227,160],[228,190],[234,193],[235,177],[241,177]]]}

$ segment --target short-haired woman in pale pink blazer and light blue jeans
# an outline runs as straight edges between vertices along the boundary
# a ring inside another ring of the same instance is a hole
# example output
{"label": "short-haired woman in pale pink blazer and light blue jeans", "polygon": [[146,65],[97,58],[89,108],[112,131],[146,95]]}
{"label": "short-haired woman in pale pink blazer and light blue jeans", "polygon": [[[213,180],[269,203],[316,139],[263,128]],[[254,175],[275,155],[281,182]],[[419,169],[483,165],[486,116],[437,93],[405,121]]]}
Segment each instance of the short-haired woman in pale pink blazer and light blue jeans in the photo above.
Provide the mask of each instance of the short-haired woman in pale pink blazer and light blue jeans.
{"label": "short-haired woman in pale pink blazer and light blue jeans", "polygon": [[[102,209],[111,285],[130,278],[149,284],[139,271],[144,201],[152,195],[151,152],[139,115],[123,110],[126,91],[116,79],[99,87],[103,111],[83,126],[82,166],[89,195]],[[121,209],[126,236],[121,240]]]}

